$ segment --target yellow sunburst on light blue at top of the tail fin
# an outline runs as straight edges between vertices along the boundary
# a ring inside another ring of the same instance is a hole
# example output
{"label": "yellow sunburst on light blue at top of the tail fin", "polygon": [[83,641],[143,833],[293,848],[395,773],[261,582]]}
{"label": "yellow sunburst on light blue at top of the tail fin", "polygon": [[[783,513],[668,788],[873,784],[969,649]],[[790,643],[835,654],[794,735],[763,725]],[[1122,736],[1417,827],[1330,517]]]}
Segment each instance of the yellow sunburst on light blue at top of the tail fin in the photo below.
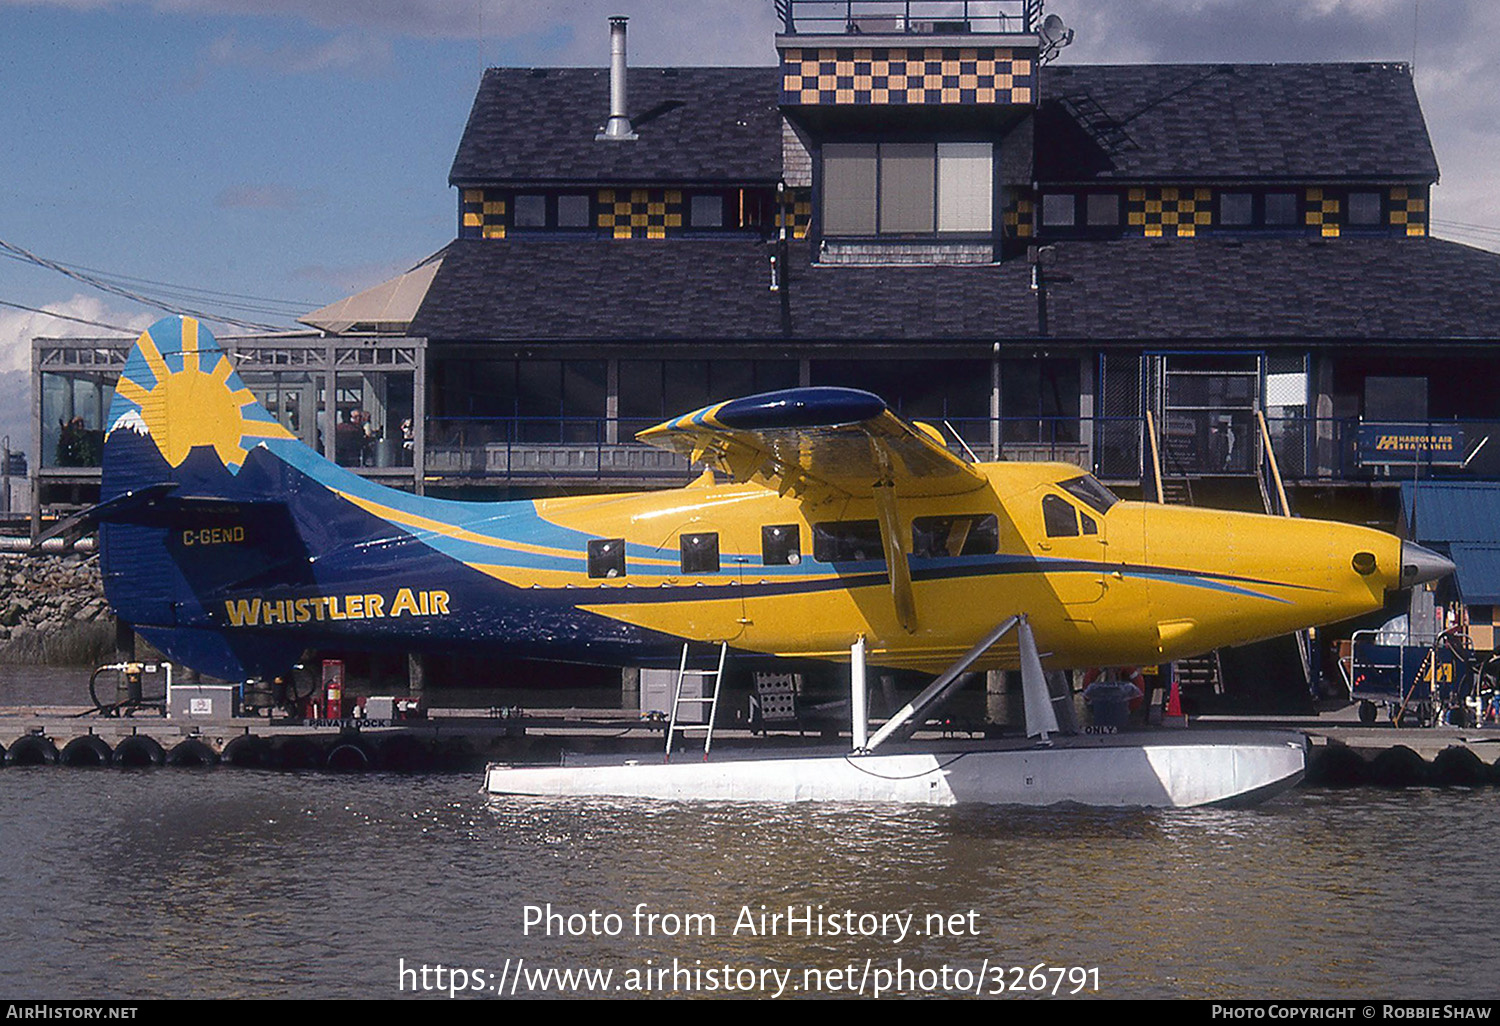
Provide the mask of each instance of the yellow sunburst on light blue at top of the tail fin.
{"label": "yellow sunburst on light blue at top of the tail fin", "polygon": [[110,430],[150,435],[171,466],[210,447],[231,471],[266,438],[292,438],[244,387],[213,334],[190,316],[158,321],[136,339],[116,386]]}

